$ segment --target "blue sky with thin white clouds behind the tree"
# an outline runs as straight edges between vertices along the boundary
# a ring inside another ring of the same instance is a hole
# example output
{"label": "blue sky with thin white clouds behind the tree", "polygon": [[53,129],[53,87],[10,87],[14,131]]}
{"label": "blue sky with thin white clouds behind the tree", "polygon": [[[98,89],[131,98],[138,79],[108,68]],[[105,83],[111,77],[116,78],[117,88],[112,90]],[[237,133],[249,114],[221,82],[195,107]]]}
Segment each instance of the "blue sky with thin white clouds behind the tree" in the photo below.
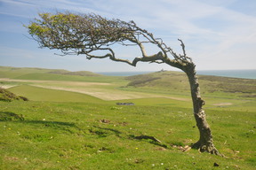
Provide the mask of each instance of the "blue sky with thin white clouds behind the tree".
{"label": "blue sky with thin white clouds behind the tree", "polygon": [[[134,20],[176,52],[182,39],[197,70],[256,69],[255,0],[0,0],[0,66],[44,67],[70,71],[126,72],[175,70],[164,64],[137,67],[85,56],[60,57],[39,49],[23,24],[38,12],[94,12],[103,17]],[[120,47],[119,58],[139,57]],[[148,54],[156,52],[148,49]]]}

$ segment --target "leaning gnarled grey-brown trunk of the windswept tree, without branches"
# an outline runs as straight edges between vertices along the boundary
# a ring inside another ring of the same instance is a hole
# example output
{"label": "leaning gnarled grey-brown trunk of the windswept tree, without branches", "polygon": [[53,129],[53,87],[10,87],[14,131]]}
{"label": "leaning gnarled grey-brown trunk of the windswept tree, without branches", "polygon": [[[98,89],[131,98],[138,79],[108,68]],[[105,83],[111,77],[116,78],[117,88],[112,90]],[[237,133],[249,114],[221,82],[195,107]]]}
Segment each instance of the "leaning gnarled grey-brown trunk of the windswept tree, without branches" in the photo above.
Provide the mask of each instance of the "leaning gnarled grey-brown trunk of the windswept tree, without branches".
{"label": "leaning gnarled grey-brown trunk of the windswept tree, without branches", "polygon": [[196,66],[193,63],[188,64],[184,67],[183,71],[188,75],[193,101],[194,117],[200,134],[199,140],[192,145],[192,148],[198,149],[201,152],[207,151],[215,155],[220,155],[220,152],[213,144],[212,132],[206,121],[206,116],[203,110],[204,100],[200,96],[199,83],[196,76]]}

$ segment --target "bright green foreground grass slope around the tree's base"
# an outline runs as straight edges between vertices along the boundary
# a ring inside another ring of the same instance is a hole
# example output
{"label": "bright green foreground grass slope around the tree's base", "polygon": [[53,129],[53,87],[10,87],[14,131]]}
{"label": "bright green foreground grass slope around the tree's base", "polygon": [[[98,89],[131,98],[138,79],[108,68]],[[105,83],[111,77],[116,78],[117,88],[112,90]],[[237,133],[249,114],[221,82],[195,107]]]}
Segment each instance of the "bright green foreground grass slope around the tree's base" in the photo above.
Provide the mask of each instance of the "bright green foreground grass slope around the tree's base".
{"label": "bright green foreground grass slope around the tree's base", "polygon": [[[190,108],[0,102],[1,169],[255,169],[255,113],[208,111],[215,145],[228,158],[180,147],[196,142]],[[237,121],[239,120],[239,121]],[[254,126],[254,128],[253,128]],[[161,140],[138,140],[150,135]]]}

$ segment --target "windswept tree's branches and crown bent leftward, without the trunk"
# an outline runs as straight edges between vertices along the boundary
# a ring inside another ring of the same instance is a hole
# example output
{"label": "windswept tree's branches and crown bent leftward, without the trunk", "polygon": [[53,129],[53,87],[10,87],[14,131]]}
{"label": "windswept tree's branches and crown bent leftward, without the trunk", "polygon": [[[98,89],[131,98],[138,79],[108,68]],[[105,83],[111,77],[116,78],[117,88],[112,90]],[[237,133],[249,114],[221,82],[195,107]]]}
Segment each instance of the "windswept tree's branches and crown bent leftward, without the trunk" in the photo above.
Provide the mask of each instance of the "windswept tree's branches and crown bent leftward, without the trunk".
{"label": "windswept tree's branches and crown bent leftward, without the trunk", "polygon": [[[184,69],[184,65],[192,64],[181,40],[179,41],[183,54],[177,54],[161,38],[155,38],[147,30],[138,27],[134,21],[106,19],[94,13],[40,13],[39,17],[40,19],[31,21],[27,26],[29,34],[39,43],[40,47],[61,50],[63,55],[84,54],[88,59],[110,58],[131,66],[136,66],[139,61],[166,63],[181,70]],[[132,61],[116,58],[115,51],[109,47],[115,43],[124,46],[139,46],[141,57],[134,58]],[[148,56],[144,46],[147,43],[156,45],[160,51]],[[97,50],[104,50],[105,54],[97,56],[93,53]]]}

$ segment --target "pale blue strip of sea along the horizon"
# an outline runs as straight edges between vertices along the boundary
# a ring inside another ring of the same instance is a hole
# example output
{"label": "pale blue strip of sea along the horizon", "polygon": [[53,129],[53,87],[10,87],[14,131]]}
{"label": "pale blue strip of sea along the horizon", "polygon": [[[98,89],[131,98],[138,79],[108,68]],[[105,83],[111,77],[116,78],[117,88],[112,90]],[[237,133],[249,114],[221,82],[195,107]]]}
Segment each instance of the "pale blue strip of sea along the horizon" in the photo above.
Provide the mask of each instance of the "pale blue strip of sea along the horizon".
{"label": "pale blue strip of sea along the horizon", "polygon": [[[154,73],[154,72],[148,71],[148,72],[99,72],[99,73],[103,75],[109,75],[109,76],[132,76],[132,75]],[[243,79],[256,79],[256,69],[253,69],[253,70],[198,70],[197,74],[243,78]]]}

